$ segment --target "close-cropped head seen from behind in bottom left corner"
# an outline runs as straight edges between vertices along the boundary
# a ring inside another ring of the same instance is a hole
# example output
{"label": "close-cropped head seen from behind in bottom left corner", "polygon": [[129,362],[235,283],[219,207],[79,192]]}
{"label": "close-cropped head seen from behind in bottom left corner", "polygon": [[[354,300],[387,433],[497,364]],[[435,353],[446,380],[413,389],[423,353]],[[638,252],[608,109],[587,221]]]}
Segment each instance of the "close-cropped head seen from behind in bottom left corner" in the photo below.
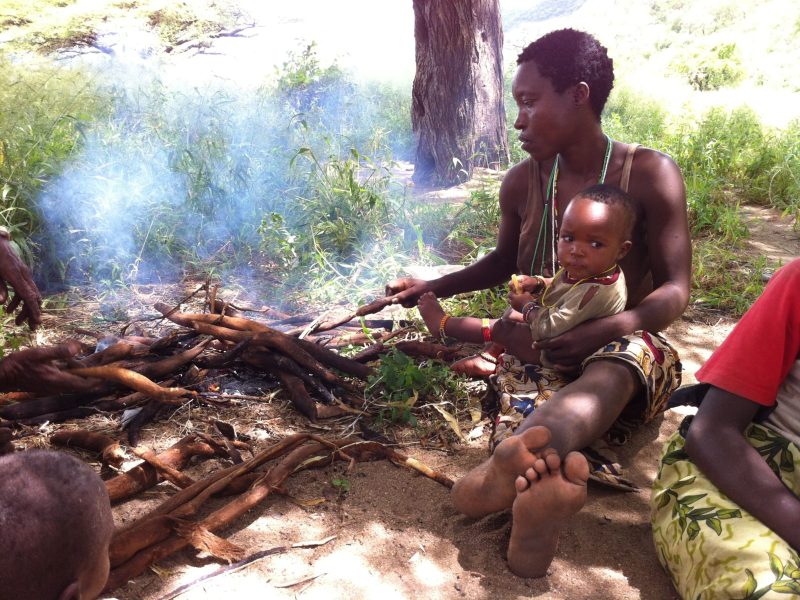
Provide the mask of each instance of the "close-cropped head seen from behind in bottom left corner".
{"label": "close-cropped head seen from behind in bottom left corner", "polygon": [[95,598],[114,525],[100,477],[63,452],[0,457],[0,599]]}

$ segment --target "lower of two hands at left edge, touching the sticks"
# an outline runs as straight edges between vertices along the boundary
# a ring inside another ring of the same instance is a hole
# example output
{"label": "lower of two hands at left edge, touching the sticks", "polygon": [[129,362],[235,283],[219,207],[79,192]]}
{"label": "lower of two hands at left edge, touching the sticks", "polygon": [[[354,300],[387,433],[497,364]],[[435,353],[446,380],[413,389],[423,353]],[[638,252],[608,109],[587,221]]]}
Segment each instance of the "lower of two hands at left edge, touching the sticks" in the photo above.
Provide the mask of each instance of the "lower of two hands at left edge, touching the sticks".
{"label": "lower of two hands at left edge, touching the sticks", "polygon": [[96,386],[90,380],[62,371],[57,360],[68,359],[81,346],[70,340],[58,346],[28,348],[9,354],[0,360],[0,391],[25,392],[86,392]]}

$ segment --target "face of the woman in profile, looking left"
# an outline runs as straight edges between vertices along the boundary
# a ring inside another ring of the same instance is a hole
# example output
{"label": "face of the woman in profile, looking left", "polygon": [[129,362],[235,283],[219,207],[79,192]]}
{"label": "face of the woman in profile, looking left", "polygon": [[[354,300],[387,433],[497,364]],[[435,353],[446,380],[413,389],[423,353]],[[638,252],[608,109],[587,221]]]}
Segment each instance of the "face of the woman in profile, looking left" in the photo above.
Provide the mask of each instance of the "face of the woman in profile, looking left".
{"label": "face of the woman in profile, looking left", "polygon": [[511,85],[518,111],[514,128],[519,130],[522,149],[535,160],[555,156],[568,143],[577,122],[573,91],[570,87],[556,92],[533,61],[517,68]]}

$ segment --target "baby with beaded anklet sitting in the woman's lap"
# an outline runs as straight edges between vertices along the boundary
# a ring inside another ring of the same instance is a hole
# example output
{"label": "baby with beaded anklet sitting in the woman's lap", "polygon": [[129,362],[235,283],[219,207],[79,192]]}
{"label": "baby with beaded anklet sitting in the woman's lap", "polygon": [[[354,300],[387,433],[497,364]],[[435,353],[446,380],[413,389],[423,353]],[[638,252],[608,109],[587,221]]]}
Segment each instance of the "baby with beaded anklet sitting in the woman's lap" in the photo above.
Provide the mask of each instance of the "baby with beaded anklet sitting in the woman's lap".
{"label": "baby with beaded anklet sitting in the woman's lap", "polygon": [[[512,278],[507,318],[530,325],[530,341],[560,335],[579,323],[625,309],[627,290],[620,261],[631,249],[636,222],[633,200],[616,186],[599,184],[579,192],[567,205],[559,229],[560,270],[552,278]],[[476,317],[450,317],[427,293],[419,312],[434,335],[470,343],[490,342],[493,322]],[[535,345],[534,345],[535,349]],[[481,353],[497,363],[491,354]],[[537,353],[526,362],[548,366]]]}

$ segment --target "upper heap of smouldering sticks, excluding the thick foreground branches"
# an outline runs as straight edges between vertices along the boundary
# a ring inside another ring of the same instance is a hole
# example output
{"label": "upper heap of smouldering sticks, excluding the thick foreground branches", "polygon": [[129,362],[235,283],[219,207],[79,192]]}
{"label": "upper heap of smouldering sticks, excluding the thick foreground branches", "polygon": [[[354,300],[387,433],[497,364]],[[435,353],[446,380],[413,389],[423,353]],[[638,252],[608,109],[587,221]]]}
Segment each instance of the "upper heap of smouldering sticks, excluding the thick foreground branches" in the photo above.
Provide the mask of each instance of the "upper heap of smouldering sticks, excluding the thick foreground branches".
{"label": "upper heap of smouldering sticks, excluding the thick foreground branches", "polygon": [[[219,372],[242,365],[279,382],[294,407],[311,421],[358,415],[363,410],[359,382],[366,381],[373,372],[366,363],[387,351],[389,340],[411,328],[379,333],[368,330],[367,326],[387,328],[393,322],[373,320],[333,336],[319,334],[387,304],[381,298],[344,316],[311,318],[310,323],[308,316],[284,318],[271,326],[240,316],[239,311],[216,298],[208,305],[219,313],[179,312],[159,302],[155,309],[183,330],[172,329],[159,338],[96,335],[102,338],[101,343],[87,346],[87,350],[94,352],[60,365],[65,371],[93,382],[91,389],[80,394],[0,395],[0,426],[54,423],[135,408],[138,412],[126,422],[129,443],[135,446],[141,427],[163,407],[188,401],[227,402],[231,396],[212,391],[204,384],[204,378],[212,370]],[[298,322],[302,327],[277,329],[279,325]],[[112,343],[104,343],[109,340]],[[352,359],[335,351],[354,343],[370,345]],[[459,351],[458,347],[413,340],[395,341],[391,346],[412,355],[444,359]]]}

